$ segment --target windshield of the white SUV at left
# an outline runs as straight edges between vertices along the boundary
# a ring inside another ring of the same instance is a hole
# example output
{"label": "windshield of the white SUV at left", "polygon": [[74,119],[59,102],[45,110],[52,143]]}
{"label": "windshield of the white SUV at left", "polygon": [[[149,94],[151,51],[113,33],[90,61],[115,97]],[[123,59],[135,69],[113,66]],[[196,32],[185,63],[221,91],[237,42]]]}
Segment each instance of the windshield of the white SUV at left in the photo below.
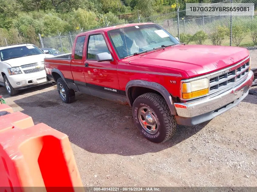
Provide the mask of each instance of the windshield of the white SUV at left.
{"label": "windshield of the white SUV at left", "polygon": [[14,59],[18,57],[30,56],[30,55],[39,55],[39,54],[44,54],[44,53],[40,49],[38,49],[35,45],[26,45],[26,46],[12,47],[8,49],[0,50],[1,61]]}

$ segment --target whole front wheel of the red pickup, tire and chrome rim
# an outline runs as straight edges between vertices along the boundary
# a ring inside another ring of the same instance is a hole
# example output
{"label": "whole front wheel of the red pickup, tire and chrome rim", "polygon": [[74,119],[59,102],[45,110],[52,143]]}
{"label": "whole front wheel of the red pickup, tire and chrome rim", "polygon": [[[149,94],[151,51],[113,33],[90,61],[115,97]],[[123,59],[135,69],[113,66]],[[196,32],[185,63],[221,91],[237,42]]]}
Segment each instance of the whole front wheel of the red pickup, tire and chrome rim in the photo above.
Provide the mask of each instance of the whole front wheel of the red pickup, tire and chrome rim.
{"label": "whole front wheel of the red pickup, tire and chrome rim", "polygon": [[174,135],[177,123],[162,96],[156,93],[138,96],[132,111],[137,128],[148,140],[160,143]]}

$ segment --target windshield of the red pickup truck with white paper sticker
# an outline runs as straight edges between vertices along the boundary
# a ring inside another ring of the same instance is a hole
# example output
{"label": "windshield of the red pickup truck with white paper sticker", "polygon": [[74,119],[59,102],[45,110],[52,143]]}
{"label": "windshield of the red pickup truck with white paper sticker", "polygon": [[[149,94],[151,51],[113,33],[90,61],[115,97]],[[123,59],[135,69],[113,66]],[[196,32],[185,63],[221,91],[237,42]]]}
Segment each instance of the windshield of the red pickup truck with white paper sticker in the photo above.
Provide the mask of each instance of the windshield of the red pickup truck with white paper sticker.
{"label": "windshield of the red pickup truck with white paper sticker", "polygon": [[123,29],[113,29],[108,32],[109,39],[121,59],[156,47],[179,44],[177,39],[156,24],[130,26]]}

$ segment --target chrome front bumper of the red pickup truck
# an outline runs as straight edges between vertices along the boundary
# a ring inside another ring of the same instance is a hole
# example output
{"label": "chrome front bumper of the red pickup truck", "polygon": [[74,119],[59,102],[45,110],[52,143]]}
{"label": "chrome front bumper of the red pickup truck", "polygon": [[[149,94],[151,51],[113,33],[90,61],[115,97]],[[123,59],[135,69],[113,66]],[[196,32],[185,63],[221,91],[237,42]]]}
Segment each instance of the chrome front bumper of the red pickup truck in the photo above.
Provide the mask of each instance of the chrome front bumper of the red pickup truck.
{"label": "chrome front bumper of the red pickup truck", "polygon": [[175,107],[176,121],[180,125],[196,125],[211,120],[238,105],[247,95],[252,85],[253,72],[250,71],[246,79],[228,90],[218,92],[213,96],[188,101],[186,103],[174,103],[183,105],[184,108]]}

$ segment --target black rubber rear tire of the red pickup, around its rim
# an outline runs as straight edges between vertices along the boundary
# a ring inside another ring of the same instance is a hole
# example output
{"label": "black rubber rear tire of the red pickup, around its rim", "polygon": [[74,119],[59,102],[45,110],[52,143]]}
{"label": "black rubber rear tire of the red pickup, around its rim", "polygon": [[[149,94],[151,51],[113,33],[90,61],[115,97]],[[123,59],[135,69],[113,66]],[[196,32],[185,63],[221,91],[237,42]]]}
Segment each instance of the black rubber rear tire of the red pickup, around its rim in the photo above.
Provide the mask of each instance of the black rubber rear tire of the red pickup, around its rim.
{"label": "black rubber rear tire of the red pickup, around its rim", "polygon": [[[75,101],[75,91],[73,89],[68,88],[67,84],[64,82],[64,80],[61,77],[57,79],[56,84],[57,84],[57,91],[59,93],[59,96],[61,97],[61,100],[64,103],[72,103]],[[66,95],[65,99],[61,96],[60,85],[62,85],[65,90],[65,95]]]}

